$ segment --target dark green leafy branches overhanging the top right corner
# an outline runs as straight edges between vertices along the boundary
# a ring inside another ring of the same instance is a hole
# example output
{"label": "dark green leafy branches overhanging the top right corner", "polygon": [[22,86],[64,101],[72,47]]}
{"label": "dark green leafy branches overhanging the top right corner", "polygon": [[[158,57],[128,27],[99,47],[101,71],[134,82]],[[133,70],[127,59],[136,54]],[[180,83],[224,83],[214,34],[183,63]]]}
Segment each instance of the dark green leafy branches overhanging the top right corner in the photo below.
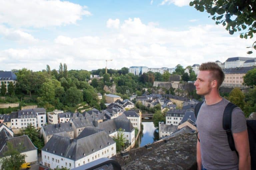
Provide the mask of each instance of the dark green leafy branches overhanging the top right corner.
{"label": "dark green leafy branches overhanging the top right corner", "polygon": [[[229,34],[241,32],[240,38],[252,38],[256,33],[256,3],[255,0],[194,0],[190,2],[196,10],[203,12],[206,10],[216,24],[226,26]],[[256,50],[256,41],[252,44]],[[251,54],[252,51],[248,51]]]}

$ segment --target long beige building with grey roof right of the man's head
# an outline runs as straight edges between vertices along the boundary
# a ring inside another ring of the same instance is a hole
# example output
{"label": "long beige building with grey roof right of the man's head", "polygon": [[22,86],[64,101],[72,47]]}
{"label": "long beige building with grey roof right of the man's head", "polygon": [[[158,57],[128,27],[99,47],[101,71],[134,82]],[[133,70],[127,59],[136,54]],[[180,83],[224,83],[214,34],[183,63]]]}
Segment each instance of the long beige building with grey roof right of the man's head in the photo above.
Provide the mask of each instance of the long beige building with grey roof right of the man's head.
{"label": "long beige building with grey roof right of the man's head", "polygon": [[246,85],[243,85],[245,74],[251,69],[256,67],[237,67],[237,68],[228,68],[224,69],[225,79],[221,86],[223,87],[240,87],[245,88]]}

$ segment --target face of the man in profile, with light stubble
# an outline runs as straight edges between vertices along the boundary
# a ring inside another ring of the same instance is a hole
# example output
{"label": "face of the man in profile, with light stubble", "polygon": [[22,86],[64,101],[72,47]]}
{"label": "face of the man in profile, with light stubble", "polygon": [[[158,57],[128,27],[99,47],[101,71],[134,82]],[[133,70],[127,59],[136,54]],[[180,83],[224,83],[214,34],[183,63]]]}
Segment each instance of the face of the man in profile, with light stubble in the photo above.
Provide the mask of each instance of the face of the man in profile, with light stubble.
{"label": "face of the man in profile, with light stubble", "polygon": [[196,93],[198,95],[207,95],[211,92],[211,76],[210,71],[200,71],[197,75],[197,80],[194,85],[196,86]]}

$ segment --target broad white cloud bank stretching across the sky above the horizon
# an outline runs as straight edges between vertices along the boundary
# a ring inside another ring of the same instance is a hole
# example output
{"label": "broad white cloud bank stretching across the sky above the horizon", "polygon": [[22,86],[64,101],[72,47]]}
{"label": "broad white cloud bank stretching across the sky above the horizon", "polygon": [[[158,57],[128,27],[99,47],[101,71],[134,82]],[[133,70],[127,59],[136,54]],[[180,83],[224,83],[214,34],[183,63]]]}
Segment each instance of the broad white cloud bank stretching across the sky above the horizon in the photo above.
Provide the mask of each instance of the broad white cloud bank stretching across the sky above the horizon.
{"label": "broad white cloud bank stretching across the sky above the horizon", "polygon": [[[139,18],[128,19],[120,29],[98,36],[57,36],[54,41],[28,48],[0,51],[2,70],[42,70],[48,64],[58,69],[59,63],[67,63],[68,69],[93,70],[105,67],[106,59],[113,59],[108,68],[122,67],[186,67],[207,61],[224,62],[229,57],[253,57],[245,47],[253,40],[229,36],[219,25],[198,25],[184,31],[159,28],[144,24]],[[255,41],[255,40],[254,40]]]}

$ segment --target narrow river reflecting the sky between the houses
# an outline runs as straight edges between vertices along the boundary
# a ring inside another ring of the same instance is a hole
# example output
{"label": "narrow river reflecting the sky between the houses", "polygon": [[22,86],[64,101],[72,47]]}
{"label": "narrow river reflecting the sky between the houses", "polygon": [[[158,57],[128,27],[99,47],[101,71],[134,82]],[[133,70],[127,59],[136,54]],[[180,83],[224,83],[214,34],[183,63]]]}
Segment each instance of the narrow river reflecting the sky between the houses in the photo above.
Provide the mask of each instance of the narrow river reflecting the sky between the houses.
{"label": "narrow river reflecting the sky between the houses", "polygon": [[158,132],[156,132],[156,128],[154,127],[153,122],[142,122],[143,124],[143,132],[139,134],[138,140],[135,143],[135,148],[143,147],[148,143],[153,143],[158,140]]}

